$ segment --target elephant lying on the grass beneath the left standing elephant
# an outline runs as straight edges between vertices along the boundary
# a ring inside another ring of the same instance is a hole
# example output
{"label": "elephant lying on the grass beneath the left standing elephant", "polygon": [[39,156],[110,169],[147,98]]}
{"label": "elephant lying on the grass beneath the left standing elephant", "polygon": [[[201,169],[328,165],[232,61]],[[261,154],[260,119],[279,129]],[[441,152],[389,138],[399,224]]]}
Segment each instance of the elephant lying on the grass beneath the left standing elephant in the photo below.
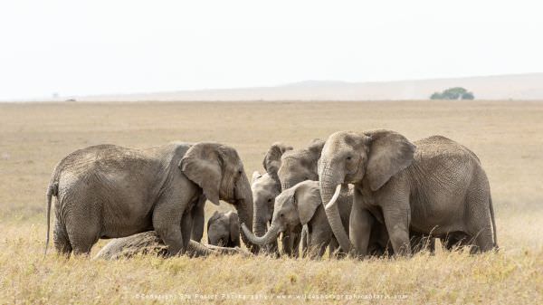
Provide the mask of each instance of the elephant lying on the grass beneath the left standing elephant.
{"label": "elephant lying on the grass beneath the left standing elephant", "polygon": [[[204,245],[191,240],[188,243],[186,253],[191,257],[201,257],[219,254],[242,254],[251,255],[240,248],[223,248]],[[135,255],[156,255],[167,257],[167,245],[162,242],[155,231],[148,231],[134,234],[129,237],[117,238],[107,243],[95,259],[117,260],[119,258],[130,258]]]}

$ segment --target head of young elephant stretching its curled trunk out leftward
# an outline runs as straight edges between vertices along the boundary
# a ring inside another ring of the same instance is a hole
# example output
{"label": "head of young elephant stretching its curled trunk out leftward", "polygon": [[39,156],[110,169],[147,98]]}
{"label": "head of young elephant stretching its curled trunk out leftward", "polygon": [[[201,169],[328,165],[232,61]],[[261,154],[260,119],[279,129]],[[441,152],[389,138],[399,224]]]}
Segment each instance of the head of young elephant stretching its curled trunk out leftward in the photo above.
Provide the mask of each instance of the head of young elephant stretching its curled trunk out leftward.
{"label": "head of young elephant stretching its curled trunk out leftward", "polygon": [[266,234],[261,237],[254,236],[244,224],[243,234],[251,243],[259,245],[271,243],[281,232],[291,232],[309,223],[321,203],[319,182],[310,180],[300,182],[275,198],[273,218]]}

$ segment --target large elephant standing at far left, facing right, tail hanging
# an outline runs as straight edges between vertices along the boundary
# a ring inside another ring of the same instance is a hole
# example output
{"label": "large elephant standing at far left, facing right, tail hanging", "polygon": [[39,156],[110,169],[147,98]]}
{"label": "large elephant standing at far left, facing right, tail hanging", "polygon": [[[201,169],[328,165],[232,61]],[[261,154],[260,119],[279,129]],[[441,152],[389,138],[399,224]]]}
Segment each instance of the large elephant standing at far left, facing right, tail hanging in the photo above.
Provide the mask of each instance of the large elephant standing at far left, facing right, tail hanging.
{"label": "large elephant standing at far left, facing right, tail hanging", "polygon": [[64,157],[52,174],[47,243],[54,195],[58,253],[88,254],[100,238],[150,230],[169,254],[184,253],[193,231],[192,208],[202,194],[215,205],[219,199],[232,204],[242,222],[252,224],[251,186],[233,148],[217,143],[82,148]]}

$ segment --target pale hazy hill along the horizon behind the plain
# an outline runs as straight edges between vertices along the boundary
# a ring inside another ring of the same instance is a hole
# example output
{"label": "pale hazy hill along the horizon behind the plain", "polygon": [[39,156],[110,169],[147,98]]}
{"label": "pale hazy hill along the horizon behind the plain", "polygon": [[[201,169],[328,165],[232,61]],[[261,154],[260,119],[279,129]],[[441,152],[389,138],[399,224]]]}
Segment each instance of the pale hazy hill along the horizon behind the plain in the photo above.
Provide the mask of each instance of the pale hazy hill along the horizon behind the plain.
{"label": "pale hazy hill along the horizon behind the plain", "polygon": [[417,81],[300,81],[274,87],[109,94],[77,100],[427,100],[434,91],[463,87],[477,100],[543,100],[543,73]]}

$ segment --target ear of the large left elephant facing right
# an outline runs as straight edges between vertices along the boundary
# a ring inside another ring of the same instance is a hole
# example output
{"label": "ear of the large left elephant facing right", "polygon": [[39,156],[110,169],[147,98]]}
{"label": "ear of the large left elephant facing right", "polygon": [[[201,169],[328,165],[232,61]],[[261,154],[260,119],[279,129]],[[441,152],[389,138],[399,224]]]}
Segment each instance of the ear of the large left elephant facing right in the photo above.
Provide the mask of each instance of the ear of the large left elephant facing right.
{"label": "ear of the large left elephant facing right", "polygon": [[218,144],[198,143],[186,151],[179,161],[181,171],[204,191],[214,205],[219,203],[219,189],[223,179],[223,157]]}

